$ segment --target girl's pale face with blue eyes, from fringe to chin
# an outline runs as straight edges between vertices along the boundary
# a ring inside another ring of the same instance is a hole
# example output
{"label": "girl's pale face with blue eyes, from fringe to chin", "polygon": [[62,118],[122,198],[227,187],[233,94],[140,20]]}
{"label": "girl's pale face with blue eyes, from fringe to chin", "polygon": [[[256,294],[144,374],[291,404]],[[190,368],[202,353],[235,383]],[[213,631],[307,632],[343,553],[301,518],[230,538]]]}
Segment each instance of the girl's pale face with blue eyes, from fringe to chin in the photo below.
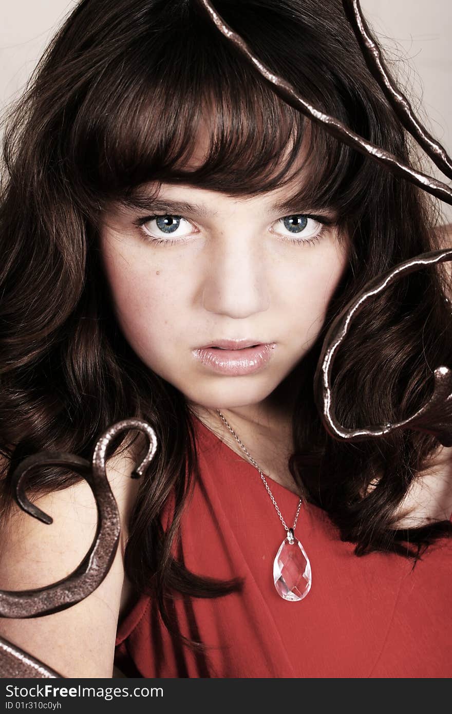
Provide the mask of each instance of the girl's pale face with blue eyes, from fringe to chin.
{"label": "girl's pale face with blue eyes, from fringe to chin", "polygon": [[286,205],[294,188],[237,198],[163,183],[149,211],[105,215],[101,255],[119,325],[190,402],[257,404],[316,341],[347,249],[333,215]]}

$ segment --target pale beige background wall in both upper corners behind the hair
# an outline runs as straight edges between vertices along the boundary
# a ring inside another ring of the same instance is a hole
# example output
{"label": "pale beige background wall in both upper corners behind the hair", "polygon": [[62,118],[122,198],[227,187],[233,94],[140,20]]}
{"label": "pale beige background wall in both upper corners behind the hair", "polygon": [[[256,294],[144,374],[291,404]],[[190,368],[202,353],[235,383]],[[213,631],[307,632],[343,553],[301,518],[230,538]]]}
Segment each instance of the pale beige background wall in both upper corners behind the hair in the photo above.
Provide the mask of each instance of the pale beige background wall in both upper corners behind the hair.
{"label": "pale beige background wall in both upper corners behind the hair", "polygon": [[[67,0],[0,0],[0,109],[19,94],[47,42],[75,5]],[[413,106],[451,153],[452,1],[361,0],[361,5],[396,63],[399,81],[414,91]],[[452,206],[443,204],[443,208],[452,220]]]}

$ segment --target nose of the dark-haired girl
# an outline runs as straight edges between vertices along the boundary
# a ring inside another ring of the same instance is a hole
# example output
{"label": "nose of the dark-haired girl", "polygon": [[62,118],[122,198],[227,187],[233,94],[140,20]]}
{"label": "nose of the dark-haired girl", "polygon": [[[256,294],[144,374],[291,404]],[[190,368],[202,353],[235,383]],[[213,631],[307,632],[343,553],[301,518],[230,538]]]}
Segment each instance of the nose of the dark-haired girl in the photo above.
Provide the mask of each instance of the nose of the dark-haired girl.
{"label": "nose of the dark-haired girl", "polygon": [[268,288],[256,236],[224,233],[212,241],[201,291],[204,309],[246,318],[268,309]]}

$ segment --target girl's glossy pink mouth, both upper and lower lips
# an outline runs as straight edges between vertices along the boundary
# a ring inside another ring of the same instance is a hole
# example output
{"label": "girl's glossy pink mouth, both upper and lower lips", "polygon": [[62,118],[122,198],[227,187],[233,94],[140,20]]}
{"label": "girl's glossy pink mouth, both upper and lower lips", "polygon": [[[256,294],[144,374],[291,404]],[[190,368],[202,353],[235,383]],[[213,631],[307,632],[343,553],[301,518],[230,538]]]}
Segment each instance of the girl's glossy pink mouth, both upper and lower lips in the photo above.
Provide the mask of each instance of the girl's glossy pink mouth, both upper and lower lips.
{"label": "girl's glossy pink mouth, both upper and lower lips", "polygon": [[217,340],[194,349],[193,354],[209,371],[240,376],[265,367],[275,348],[275,342]]}

